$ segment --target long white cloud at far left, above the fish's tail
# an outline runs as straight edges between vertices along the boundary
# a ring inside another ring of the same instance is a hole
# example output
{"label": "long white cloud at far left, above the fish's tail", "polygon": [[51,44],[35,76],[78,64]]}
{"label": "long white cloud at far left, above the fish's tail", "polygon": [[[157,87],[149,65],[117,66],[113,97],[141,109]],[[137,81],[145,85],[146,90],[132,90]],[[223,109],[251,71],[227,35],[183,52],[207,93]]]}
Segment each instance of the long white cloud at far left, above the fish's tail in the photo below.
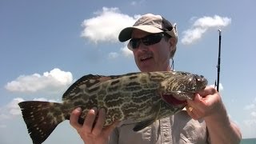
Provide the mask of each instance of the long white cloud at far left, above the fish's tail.
{"label": "long white cloud at far left, above the fish's tail", "polygon": [[70,72],[57,68],[40,74],[21,75],[5,86],[6,90],[13,92],[37,92],[38,90],[60,90],[73,82]]}

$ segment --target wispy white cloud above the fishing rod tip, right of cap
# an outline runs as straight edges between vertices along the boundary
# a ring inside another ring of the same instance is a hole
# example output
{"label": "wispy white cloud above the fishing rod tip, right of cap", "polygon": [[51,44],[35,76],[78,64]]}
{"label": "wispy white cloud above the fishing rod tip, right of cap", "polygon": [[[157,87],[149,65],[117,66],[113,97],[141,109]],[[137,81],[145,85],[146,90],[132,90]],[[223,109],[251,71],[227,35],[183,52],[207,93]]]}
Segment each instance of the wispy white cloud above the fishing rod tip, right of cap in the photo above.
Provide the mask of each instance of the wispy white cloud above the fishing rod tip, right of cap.
{"label": "wispy white cloud above the fishing rod tip, right of cap", "polygon": [[189,45],[202,38],[202,34],[205,34],[207,30],[219,29],[220,27],[230,25],[230,23],[231,18],[220,17],[218,15],[214,15],[214,17],[198,18],[189,30],[182,32],[183,38],[181,42],[185,45]]}

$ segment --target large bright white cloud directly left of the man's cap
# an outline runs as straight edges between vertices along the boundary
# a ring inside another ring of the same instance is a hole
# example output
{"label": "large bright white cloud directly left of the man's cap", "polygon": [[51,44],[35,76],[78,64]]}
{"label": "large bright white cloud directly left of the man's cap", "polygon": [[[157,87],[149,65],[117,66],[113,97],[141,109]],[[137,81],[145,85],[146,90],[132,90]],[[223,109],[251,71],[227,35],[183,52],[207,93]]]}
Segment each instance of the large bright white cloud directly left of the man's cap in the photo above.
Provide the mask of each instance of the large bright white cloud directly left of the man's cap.
{"label": "large bright white cloud directly left of the man's cap", "polygon": [[138,19],[137,15],[130,17],[119,12],[118,8],[103,7],[96,12],[94,18],[82,22],[82,38],[91,42],[118,42],[119,32],[126,26],[132,26]]}

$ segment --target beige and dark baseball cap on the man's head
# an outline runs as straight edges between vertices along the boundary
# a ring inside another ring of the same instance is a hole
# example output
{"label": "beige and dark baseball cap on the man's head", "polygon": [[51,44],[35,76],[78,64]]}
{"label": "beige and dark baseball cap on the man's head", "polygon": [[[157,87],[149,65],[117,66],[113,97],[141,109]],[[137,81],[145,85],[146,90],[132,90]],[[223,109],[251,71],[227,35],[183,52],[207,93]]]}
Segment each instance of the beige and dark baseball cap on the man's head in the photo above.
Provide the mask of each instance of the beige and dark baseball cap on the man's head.
{"label": "beige and dark baseball cap on the man's head", "polygon": [[[178,42],[177,26],[174,23],[170,23],[166,18],[163,18],[161,15],[154,14],[145,14],[141,18],[138,18],[137,22],[134,23],[134,26],[126,27],[119,33],[118,39],[120,42],[126,42],[131,38],[131,34],[134,29],[143,30],[150,34],[162,33],[165,32],[171,37],[176,39]],[[174,47],[174,52],[176,50],[176,45]],[[173,56],[173,55],[172,55]]]}

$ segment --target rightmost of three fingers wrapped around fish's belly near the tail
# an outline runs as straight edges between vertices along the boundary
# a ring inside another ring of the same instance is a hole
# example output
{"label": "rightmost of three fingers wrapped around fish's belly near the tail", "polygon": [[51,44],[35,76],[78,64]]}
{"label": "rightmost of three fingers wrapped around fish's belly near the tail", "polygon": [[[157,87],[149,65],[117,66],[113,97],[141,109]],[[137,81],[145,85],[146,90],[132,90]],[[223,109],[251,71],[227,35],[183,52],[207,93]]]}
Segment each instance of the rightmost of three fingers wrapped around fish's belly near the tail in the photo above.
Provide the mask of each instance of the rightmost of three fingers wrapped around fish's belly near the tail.
{"label": "rightmost of three fingers wrapped around fish's belly near the tail", "polygon": [[99,135],[102,132],[102,128],[105,124],[106,120],[106,110],[105,109],[100,109],[98,112],[98,119],[97,122],[92,130],[92,134],[94,135]]}

